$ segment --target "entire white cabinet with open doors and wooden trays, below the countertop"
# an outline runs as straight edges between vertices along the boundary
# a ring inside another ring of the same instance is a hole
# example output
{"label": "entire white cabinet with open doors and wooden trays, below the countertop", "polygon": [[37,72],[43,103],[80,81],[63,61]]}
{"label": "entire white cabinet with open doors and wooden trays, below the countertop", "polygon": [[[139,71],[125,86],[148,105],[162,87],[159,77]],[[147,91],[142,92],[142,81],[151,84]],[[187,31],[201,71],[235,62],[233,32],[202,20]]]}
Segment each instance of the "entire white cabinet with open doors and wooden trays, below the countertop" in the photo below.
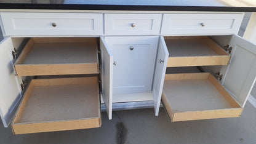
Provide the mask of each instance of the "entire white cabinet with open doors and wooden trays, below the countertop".
{"label": "entire white cabinet with open doors and wooden trays, below the countertop", "polygon": [[[161,100],[172,121],[241,116],[256,77],[256,46],[235,35],[242,16],[1,12],[4,126],[15,116],[14,134],[100,127],[100,97],[109,119],[115,103],[145,101],[157,116]],[[23,38],[15,37],[30,38],[16,60],[12,50]],[[166,74],[167,67],[184,66],[202,66],[206,73]],[[15,114],[26,76],[38,78]]]}

